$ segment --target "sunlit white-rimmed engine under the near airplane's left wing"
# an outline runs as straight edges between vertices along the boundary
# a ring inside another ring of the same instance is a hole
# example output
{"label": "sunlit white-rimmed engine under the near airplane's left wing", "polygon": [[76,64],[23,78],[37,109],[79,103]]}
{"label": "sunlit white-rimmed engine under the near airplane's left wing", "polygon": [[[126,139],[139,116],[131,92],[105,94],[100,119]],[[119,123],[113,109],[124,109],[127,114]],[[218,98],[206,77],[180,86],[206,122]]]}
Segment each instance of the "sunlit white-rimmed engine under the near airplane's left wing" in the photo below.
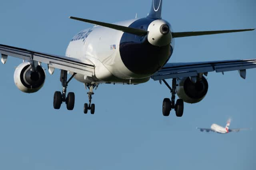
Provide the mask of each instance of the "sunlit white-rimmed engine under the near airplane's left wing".
{"label": "sunlit white-rimmed engine under the near airplane's left wing", "polygon": [[14,71],[14,83],[25,93],[35,93],[44,85],[45,76],[44,69],[40,65],[31,71],[30,63],[24,62]]}

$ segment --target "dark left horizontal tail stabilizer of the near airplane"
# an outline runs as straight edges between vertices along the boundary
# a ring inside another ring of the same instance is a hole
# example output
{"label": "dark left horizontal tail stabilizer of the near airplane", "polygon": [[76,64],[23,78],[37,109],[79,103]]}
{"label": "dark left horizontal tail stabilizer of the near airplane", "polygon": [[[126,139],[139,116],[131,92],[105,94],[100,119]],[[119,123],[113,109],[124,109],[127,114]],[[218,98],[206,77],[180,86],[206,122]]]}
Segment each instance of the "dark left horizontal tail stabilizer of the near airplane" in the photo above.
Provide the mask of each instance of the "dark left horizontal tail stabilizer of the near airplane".
{"label": "dark left horizontal tail stabilizer of the near airplane", "polygon": [[130,34],[135,34],[135,35],[138,35],[138,36],[146,36],[148,34],[148,31],[140,30],[140,29],[137,29],[137,28],[118,26],[118,25],[115,25],[115,24],[109,24],[109,23],[105,23],[105,22],[87,20],[87,19],[83,19],[83,18],[76,18],[76,17],[72,17],[72,16],[70,16],[69,18],[73,19],[73,20],[78,20],[78,21],[82,21],[82,22],[88,22],[88,23],[91,23],[91,24],[96,24],[98,26],[112,28],[112,29],[119,30],[119,31],[122,31],[122,32],[130,33]]}

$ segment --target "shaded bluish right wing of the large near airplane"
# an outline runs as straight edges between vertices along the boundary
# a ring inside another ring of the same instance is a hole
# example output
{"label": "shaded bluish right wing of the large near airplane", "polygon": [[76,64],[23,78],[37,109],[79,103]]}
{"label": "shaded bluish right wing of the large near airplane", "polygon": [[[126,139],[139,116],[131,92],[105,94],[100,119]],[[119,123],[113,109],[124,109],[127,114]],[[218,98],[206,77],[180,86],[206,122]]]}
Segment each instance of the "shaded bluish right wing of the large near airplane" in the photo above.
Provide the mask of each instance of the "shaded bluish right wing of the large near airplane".
{"label": "shaded bluish right wing of the large near airplane", "polygon": [[210,71],[222,72],[238,70],[240,76],[246,78],[246,69],[256,68],[256,59],[206,61],[192,63],[166,63],[162,69],[152,75],[154,80],[172,79],[178,77],[193,77]]}

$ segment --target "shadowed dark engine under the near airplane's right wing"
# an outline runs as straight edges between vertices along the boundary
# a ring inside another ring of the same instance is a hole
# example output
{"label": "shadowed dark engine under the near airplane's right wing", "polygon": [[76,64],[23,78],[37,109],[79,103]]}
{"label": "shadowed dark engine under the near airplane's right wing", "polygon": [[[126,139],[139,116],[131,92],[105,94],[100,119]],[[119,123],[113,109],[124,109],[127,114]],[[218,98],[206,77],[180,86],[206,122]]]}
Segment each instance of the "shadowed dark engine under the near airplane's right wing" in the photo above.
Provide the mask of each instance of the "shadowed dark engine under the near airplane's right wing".
{"label": "shadowed dark engine under the near airplane's right wing", "polygon": [[178,86],[176,87],[177,95],[186,103],[198,103],[206,96],[208,91],[208,82],[202,76],[200,81],[193,83],[190,77],[184,77],[177,80]]}

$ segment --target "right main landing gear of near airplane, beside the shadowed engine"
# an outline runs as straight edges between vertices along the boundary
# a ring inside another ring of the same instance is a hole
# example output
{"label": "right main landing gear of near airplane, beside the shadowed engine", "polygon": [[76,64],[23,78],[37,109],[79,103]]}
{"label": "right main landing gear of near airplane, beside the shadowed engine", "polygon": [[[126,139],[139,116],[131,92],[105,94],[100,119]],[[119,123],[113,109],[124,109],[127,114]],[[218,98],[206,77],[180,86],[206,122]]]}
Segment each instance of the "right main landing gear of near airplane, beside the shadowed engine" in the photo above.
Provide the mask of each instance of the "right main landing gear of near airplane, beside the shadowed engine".
{"label": "right main landing gear of near airplane, beside the shadowed engine", "polygon": [[175,103],[175,95],[176,95],[176,79],[172,79],[172,88],[165,80],[162,80],[164,84],[170,89],[172,93],[171,100],[169,98],[165,98],[163,101],[163,115],[169,116],[170,111],[172,109],[175,110],[177,117],[182,117],[184,110],[184,102],[182,99],[178,99]]}

